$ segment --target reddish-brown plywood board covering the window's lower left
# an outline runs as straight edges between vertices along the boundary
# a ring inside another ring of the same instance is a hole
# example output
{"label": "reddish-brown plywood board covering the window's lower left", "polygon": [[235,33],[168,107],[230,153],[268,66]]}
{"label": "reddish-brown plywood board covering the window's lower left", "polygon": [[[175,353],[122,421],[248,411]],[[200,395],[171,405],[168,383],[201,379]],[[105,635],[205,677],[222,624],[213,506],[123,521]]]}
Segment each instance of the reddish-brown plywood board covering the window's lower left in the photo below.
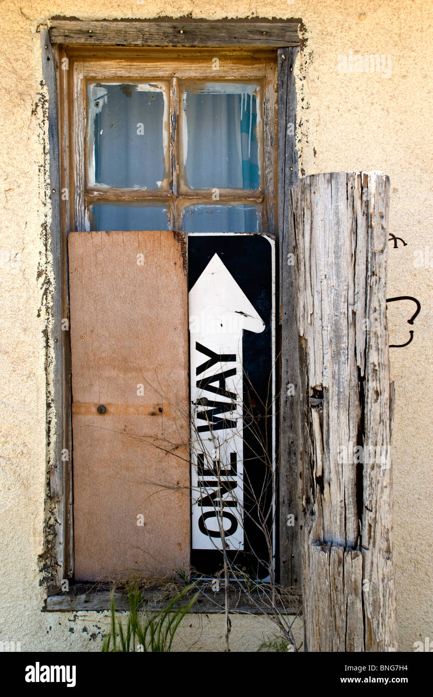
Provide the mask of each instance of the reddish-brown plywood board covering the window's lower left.
{"label": "reddish-brown plywood board covering the window's lower left", "polygon": [[165,578],[190,556],[182,247],[146,231],[68,248],[75,579]]}

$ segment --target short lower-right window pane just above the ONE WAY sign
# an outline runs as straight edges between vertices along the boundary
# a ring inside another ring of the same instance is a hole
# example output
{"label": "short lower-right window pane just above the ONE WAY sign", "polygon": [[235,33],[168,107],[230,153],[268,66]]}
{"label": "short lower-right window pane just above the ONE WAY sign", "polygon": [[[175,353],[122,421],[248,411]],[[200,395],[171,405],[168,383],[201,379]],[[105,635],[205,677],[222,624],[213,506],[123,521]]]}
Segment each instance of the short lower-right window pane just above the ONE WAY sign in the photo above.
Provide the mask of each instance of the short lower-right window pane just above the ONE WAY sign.
{"label": "short lower-right window pane just above the ONE WAY sign", "polygon": [[258,232],[259,211],[254,206],[188,206],[182,212],[185,232]]}

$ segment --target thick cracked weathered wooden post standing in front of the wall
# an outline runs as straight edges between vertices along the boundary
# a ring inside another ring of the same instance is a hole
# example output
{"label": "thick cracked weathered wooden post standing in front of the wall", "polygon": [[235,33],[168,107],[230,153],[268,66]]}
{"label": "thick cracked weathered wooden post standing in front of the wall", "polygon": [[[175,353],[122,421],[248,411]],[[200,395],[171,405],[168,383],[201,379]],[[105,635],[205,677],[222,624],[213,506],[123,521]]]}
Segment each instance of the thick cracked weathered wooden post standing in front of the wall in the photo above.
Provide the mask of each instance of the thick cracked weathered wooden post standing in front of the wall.
{"label": "thick cracked weathered wooden post standing in front of the wall", "polygon": [[291,190],[283,254],[294,254],[308,651],[397,650],[388,200],[375,172],[317,174]]}

